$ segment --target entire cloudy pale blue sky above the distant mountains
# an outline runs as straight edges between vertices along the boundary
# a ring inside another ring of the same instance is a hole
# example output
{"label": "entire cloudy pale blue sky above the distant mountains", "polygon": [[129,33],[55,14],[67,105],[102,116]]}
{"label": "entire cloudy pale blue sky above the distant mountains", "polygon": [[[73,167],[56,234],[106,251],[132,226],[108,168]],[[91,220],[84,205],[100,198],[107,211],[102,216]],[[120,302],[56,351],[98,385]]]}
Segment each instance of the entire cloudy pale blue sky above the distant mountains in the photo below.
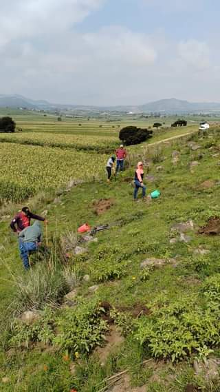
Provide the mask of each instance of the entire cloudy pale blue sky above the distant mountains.
{"label": "entire cloudy pale blue sky above the distant mountains", "polygon": [[220,101],[219,0],[1,0],[0,94]]}

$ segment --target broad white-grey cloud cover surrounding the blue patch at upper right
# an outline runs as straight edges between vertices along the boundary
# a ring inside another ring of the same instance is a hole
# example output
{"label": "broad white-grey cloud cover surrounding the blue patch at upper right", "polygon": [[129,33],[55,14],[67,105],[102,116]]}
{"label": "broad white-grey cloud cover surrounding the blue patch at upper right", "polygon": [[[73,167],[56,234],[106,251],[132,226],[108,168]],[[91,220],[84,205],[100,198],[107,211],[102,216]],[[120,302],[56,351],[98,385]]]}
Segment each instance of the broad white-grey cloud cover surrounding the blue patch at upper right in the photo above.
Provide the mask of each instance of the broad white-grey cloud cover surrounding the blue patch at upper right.
{"label": "broad white-grey cloud cover surrounding the blue patch at upper right", "polygon": [[[204,99],[206,92],[218,100],[219,37],[178,43],[162,30],[149,36],[120,25],[93,27],[92,32],[86,32],[85,24],[83,32],[74,28],[108,1],[117,0],[3,3],[1,93],[98,105],[144,103],[164,96],[196,100]],[[160,10],[162,4],[166,10],[174,3],[175,10],[184,6],[182,0],[167,1],[148,3]]]}

